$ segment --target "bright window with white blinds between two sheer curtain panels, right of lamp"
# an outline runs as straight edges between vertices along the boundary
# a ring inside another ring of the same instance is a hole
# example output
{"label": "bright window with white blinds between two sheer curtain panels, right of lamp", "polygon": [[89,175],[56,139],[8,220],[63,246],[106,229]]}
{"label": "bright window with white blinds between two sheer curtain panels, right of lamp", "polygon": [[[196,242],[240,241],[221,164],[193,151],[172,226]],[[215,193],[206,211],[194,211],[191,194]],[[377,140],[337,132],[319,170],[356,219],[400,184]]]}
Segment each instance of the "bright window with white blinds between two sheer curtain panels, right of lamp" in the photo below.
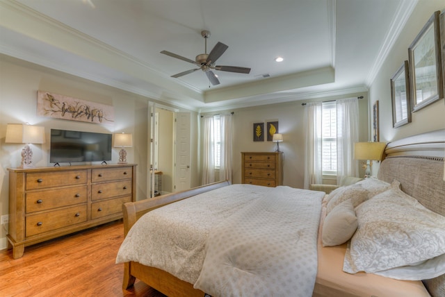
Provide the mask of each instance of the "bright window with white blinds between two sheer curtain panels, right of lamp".
{"label": "bright window with white blinds between two sheer curtain panels, right of lamp", "polygon": [[321,160],[323,175],[337,175],[337,105],[325,102],[321,107]]}

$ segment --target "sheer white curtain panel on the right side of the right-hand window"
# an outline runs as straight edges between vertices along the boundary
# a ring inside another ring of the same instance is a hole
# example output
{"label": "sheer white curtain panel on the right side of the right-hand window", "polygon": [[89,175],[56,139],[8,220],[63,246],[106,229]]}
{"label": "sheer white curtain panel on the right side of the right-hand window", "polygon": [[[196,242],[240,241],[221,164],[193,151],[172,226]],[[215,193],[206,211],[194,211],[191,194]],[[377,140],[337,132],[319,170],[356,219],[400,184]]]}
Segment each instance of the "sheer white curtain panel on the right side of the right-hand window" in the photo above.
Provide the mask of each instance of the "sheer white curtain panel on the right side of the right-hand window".
{"label": "sheer white curtain panel on the right side of the right-hand window", "polygon": [[357,98],[337,100],[337,185],[342,176],[358,176],[354,144],[359,141],[359,103]]}

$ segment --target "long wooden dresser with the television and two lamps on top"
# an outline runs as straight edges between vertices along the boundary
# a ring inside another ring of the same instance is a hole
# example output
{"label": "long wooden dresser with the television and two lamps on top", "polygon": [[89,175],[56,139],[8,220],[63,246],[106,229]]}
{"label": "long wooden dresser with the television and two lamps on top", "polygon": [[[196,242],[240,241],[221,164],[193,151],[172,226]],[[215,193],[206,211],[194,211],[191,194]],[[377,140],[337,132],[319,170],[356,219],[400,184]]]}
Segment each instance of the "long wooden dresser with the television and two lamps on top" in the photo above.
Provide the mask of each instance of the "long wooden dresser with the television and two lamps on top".
{"label": "long wooden dresser with the television and two lamps on top", "polygon": [[9,248],[25,246],[122,218],[135,201],[136,164],[35,167],[9,171]]}

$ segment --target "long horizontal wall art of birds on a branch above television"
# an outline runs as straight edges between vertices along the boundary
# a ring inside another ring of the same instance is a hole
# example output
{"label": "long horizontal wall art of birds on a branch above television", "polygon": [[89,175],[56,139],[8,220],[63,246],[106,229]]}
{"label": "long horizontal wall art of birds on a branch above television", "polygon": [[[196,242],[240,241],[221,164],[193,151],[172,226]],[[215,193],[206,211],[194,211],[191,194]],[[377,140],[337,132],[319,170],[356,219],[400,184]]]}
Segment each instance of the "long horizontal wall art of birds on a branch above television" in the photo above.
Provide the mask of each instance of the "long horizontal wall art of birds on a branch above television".
{"label": "long horizontal wall art of birds on a branch above television", "polygon": [[114,121],[114,108],[69,96],[38,91],[37,114],[42,117],[86,121],[95,124],[111,124]]}

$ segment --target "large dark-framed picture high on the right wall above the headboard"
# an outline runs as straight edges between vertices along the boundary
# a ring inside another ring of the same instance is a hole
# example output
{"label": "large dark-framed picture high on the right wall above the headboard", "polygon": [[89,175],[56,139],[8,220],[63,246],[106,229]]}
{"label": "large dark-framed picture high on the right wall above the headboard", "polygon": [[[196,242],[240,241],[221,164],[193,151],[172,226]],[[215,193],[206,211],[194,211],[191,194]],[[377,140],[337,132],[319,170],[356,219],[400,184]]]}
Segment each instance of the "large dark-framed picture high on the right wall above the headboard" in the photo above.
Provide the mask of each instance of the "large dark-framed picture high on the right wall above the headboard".
{"label": "large dark-framed picture high on the right wall above the headboard", "polygon": [[434,12],[408,48],[413,112],[444,96],[439,14]]}

